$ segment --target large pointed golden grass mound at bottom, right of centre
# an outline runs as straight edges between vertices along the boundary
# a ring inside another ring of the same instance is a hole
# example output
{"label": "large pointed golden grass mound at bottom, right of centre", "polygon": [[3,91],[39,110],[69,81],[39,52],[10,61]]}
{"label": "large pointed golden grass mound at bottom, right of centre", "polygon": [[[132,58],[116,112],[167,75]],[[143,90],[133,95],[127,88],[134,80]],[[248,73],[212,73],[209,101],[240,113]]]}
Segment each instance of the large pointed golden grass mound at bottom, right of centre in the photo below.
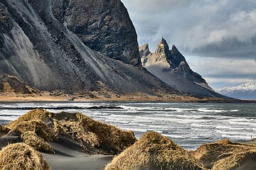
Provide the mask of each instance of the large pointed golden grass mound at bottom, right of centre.
{"label": "large pointed golden grass mound at bottom, right of centre", "polygon": [[168,137],[147,132],[134,145],[115,157],[105,170],[139,169],[203,169],[185,149]]}

